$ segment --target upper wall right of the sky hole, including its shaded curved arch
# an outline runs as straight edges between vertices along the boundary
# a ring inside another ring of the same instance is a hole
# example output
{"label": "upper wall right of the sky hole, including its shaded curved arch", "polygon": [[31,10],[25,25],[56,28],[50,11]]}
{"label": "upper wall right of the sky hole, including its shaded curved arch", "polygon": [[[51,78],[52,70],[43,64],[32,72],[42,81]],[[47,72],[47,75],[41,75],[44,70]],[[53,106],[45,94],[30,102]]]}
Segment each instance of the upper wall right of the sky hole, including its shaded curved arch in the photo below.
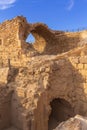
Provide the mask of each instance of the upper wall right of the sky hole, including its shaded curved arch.
{"label": "upper wall right of the sky hole, including its shaded curved arch", "polygon": [[40,54],[56,55],[87,44],[87,31],[63,32],[50,30],[46,25],[32,24],[31,31],[35,37],[32,47]]}

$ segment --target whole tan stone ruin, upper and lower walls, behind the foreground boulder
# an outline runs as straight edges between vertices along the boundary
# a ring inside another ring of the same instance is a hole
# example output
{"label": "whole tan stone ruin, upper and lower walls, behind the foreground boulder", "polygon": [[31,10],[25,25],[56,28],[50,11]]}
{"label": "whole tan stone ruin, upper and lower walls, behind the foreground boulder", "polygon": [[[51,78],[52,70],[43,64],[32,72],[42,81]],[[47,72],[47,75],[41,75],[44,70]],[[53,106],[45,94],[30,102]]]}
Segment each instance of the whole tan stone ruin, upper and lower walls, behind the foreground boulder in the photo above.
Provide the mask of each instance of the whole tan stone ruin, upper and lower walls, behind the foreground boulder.
{"label": "whole tan stone ruin, upper and lower walls, behind the foreground boulder", "polygon": [[1,23],[0,77],[0,130],[53,130],[87,116],[87,31],[53,31],[22,16]]}

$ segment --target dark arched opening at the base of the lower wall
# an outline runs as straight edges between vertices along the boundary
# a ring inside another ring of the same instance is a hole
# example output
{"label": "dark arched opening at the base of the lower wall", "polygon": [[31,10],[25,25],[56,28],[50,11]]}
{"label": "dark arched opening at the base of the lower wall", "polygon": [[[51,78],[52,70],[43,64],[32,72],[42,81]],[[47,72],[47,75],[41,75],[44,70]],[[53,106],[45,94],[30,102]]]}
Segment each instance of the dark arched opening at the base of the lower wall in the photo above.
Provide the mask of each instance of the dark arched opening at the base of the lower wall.
{"label": "dark arched opening at the base of the lower wall", "polygon": [[55,129],[59,123],[75,115],[70,103],[64,99],[54,99],[50,105],[52,110],[49,116],[48,130]]}

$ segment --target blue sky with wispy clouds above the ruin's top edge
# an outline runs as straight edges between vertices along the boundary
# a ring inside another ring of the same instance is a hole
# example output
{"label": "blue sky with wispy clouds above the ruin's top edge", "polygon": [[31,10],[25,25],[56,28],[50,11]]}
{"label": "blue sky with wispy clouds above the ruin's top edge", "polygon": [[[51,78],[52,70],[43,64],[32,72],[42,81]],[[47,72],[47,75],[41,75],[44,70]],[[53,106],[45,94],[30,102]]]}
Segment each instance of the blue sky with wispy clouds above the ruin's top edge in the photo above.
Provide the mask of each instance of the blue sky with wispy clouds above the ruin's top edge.
{"label": "blue sky with wispy clouds above the ruin's top edge", "polygon": [[87,29],[87,0],[0,0],[0,23],[18,15],[54,30]]}

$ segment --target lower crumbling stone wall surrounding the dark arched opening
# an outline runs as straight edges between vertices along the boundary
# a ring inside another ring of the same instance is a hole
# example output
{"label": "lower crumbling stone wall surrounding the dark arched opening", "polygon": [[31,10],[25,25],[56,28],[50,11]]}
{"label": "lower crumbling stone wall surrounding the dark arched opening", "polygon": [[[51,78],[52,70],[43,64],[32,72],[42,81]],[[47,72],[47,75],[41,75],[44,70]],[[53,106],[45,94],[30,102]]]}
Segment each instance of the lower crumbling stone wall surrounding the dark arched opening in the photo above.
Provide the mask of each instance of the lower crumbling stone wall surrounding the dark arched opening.
{"label": "lower crumbling stone wall surrounding the dark arched opening", "polygon": [[[86,116],[87,63],[86,60],[82,61],[86,56],[64,57],[37,57],[33,62],[31,60],[29,68],[19,69],[11,84],[15,86],[11,107],[11,119],[15,127],[23,130],[48,130],[50,102],[55,98],[69,102],[74,114]],[[38,61],[41,62],[38,64]]]}

